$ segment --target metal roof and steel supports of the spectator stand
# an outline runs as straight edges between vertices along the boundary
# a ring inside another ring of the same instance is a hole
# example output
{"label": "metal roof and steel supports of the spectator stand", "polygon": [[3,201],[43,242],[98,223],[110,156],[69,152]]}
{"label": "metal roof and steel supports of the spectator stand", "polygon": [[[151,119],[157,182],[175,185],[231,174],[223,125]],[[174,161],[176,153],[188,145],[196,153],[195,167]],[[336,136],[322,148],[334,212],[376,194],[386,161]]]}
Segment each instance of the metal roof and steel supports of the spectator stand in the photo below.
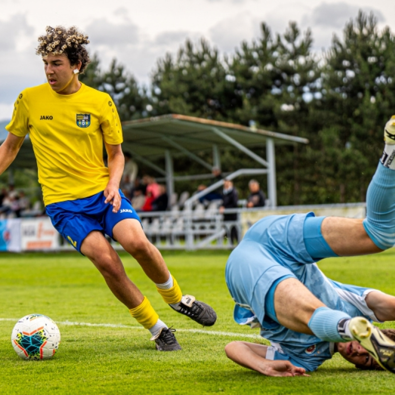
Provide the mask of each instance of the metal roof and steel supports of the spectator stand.
{"label": "metal roof and steel supports of the spectator stand", "polygon": [[[208,174],[174,176],[174,159],[181,155],[188,156],[211,173],[213,167],[221,168],[220,150],[233,147],[237,148],[240,153],[253,158],[261,167],[239,169],[235,173],[228,174],[227,178],[233,179],[247,174],[267,174],[268,197],[272,207],[275,207],[277,202],[275,144],[309,143],[308,139],[302,137],[178,114],[124,121],[122,130],[123,151],[129,151],[137,162],[146,164],[165,177],[169,196],[174,191],[174,181],[193,177],[195,179],[207,178],[208,176]],[[4,140],[4,136],[0,136],[0,143]],[[253,152],[252,148],[257,146],[266,146],[266,159]],[[210,150],[213,155],[212,163],[206,162],[197,155],[198,152]],[[165,158],[164,169],[154,162],[158,158]],[[32,143],[27,136],[11,169],[34,168],[36,165]],[[218,188],[222,183],[223,181],[219,181],[210,186],[203,191],[202,195]],[[190,200],[196,200],[199,197],[200,195],[197,194]]]}

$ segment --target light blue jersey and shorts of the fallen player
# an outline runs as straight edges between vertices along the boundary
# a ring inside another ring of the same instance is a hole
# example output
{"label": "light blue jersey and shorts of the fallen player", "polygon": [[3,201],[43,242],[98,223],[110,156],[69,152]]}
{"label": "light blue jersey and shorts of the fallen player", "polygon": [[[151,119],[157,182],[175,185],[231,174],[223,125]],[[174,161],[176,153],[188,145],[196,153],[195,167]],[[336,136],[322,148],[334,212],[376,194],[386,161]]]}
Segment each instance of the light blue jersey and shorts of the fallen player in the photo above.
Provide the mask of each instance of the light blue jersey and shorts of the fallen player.
{"label": "light blue jersey and shorts of the fallen player", "polygon": [[297,278],[330,309],[377,321],[365,303],[373,289],[330,280],[306,251],[303,224],[310,216],[314,213],[261,219],[246,232],[226,266],[226,282],[237,303],[235,320],[260,324],[262,337],[273,346],[268,359],[288,359],[308,371],[332,357],[333,343],[287,329],[265,314],[266,295],[278,278]]}

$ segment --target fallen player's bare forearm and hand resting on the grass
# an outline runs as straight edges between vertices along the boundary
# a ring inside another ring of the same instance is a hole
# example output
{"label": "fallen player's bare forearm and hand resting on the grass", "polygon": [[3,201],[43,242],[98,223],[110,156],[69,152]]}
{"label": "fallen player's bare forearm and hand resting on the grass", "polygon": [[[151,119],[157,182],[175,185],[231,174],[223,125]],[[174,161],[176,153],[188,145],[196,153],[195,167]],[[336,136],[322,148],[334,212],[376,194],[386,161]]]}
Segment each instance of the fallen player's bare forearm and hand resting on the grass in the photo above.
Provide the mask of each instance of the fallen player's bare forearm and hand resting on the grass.
{"label": "fallen player's bare forearm and hand resting on the grass", "polygon": [[306,370],[289,361],[266,359],[267,346],[235,341],[225,346],[229,359],[266,376],[309,376]]}

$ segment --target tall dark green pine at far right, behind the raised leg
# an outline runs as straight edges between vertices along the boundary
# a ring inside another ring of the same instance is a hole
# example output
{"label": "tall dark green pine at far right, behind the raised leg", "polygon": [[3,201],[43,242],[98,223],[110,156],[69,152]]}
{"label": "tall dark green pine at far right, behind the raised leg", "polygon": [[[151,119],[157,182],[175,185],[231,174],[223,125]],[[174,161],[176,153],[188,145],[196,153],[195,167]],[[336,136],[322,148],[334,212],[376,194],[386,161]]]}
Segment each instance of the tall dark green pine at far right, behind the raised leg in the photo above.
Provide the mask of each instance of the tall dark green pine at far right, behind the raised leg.
{"label": "tall dark green pine at far right, behind the raised leg", "polygon": [[360,11],[325,55],[316,115],[321,180],[333,186],[331,201],[364,200],[395,104],[394,49],[389,29],[379,32],[374,15]]}

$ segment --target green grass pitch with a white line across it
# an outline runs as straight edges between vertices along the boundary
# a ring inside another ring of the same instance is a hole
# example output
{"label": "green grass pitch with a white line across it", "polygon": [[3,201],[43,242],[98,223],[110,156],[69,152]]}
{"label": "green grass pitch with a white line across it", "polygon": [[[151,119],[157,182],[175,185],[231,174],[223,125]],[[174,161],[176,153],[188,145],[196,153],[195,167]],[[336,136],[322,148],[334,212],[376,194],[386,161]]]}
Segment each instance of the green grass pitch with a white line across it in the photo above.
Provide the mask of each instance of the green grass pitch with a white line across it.
{"label": "green grass pitch with a white line across it", "polygon": [[[238,326],[224,280],[229,252],[164,252],[184,293],[209,303],[217,323],[202,328],[172,311],[130,256],[126,272],[151,300],[167,325],[177,329],[183,350],[159,353],[107,288],[93,265],[78,253],[0,254],[1,394],[388,394],[395,376],[358,371],[335,355],[311,377],[265,377],[228,360],[232,340],[262,341],[257,330]],[[395,294],[395,250],[319,263],[336,280]],[[22,316],[40,313],[58,323],[62,342],[48,361],[25,361],[10,335]],[[78,324],[81,323],[81,324]],[[107,325],[106,325],[107,324]],[[395,327],[387,322],[382,327]],[[263,342],[263,341],[262,341]]]}

